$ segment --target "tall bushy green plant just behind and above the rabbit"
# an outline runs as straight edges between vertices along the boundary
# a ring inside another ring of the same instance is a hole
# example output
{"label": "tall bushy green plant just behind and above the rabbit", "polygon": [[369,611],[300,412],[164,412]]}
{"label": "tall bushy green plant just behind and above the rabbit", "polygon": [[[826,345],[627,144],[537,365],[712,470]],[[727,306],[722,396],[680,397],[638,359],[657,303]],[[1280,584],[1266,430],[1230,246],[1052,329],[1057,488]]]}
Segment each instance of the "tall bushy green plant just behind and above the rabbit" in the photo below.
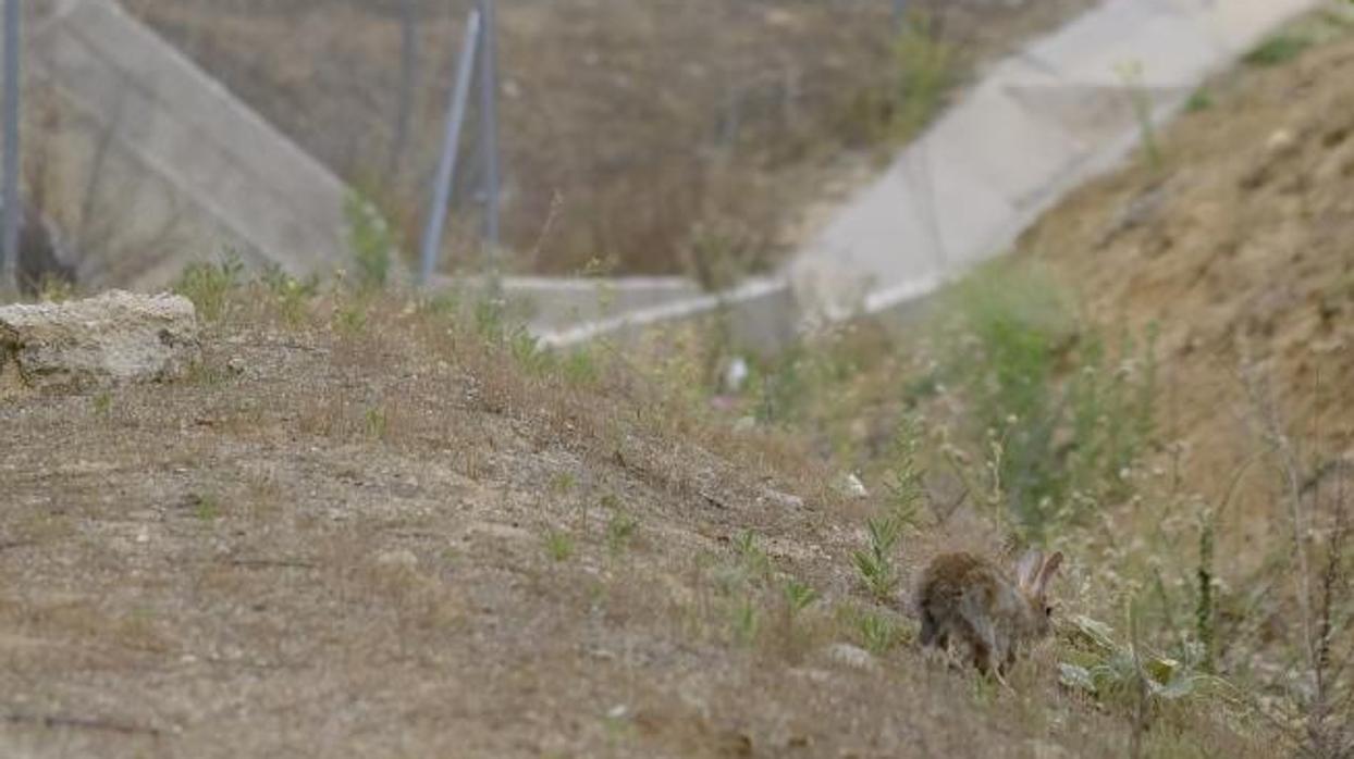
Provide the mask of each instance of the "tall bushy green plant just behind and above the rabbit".
{"label": "tall bushy green plant just behind and above the rabbit", "polygon": [[[972,413],[967,434],[980,451],[978,476],[946,455],[972,492],[1003,506],[1022,538],[1105,502],[1131,497],[1135,465],[1155,434],[1155,330],[1117,350],[1037,271],[998,264],[957,290],[959,334],[945,372],[963,377]],[[987,479],[991,487],[969,486]]]}

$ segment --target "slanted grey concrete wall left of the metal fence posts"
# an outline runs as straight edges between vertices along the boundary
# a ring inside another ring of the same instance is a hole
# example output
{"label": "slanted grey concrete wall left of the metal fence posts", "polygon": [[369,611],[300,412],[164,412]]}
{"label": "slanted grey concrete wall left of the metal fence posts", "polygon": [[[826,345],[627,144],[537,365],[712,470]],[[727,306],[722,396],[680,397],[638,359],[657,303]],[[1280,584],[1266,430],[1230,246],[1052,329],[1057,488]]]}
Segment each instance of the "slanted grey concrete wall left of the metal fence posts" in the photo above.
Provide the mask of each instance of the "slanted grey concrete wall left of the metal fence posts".
{"label": "slanted grey concrete wall left of the metal fence posts", "polygon": [[81,281],[154,288],[222,246],[295,273],[338,264],[332,172],[116,3],[49,0],[28,16],[28,160],[37,145]]}

